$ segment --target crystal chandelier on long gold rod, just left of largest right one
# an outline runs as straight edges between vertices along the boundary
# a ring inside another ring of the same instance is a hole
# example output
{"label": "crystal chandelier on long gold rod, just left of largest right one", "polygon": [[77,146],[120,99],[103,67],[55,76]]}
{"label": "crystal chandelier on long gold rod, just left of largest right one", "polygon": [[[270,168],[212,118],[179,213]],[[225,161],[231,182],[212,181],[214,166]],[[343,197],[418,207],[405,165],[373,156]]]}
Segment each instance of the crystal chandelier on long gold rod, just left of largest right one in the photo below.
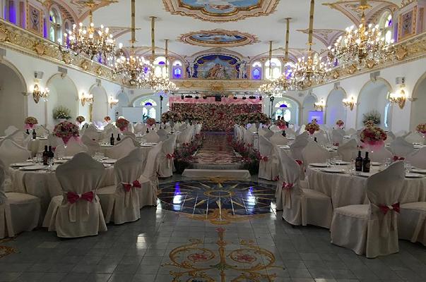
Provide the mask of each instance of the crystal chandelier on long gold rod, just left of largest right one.
{"label": "crystal chandelier on long gold rod, just left of largest right one", "polygon": [[314,83],[323,82],[329,71],[328,63],[322,61],[322,58],[312,51],[312,34],[314,30],[314,6],[315,1],[311,0],[311,8],[309,11],[309,33],[308,45],[309,50],[307,57],[297,59],[293,74],[295,85],[297,87],[311,87]]}

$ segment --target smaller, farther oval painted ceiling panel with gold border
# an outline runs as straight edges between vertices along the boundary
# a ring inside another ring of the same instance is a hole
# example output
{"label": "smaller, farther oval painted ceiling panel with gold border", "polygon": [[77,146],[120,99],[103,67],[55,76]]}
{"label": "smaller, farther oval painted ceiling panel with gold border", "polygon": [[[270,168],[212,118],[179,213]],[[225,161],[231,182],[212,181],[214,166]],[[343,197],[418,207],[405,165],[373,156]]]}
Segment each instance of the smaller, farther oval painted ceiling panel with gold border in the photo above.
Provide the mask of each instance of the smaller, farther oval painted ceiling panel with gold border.
{"label": "smaller, farther oval painted ceiling panel with gold border", "polygon": [[236,47],[259,42],[254,35],[236,30],[201,30],[180,35],[179,41],[203,47]]}

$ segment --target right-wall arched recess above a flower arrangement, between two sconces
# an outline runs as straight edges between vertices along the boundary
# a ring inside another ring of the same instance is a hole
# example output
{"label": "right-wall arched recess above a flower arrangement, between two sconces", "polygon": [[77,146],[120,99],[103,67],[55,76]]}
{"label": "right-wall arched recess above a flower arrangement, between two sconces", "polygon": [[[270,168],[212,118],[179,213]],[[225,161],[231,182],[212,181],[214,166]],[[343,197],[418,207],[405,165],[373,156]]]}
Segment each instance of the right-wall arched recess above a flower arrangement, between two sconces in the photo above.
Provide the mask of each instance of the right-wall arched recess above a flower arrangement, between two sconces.
{"label": "right-wall arched recess above a flower arrangement, between two sconces", "polygon": [[361,89],[357,99],[357,128],[362,128],[365,116],[377,114],[379,116],[379,127],[391,130],[392,105],[388,100],[392,91],[389,82],[377,79],[367,82]]}

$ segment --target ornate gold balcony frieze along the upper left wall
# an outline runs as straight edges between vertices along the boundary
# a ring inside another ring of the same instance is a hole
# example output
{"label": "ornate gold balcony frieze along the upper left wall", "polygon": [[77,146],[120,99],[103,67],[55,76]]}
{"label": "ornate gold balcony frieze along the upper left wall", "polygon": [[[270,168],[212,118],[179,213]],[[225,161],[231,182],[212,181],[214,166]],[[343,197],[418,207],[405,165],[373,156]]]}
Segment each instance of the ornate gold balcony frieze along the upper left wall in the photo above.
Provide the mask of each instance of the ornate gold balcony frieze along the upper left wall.
{"label": "ornate gold balcony frieze along the upper left wall", "polygon": [[3,19],[0,19],[0,45],[37,59],[75,68],[122,85],[122,82],[114,77],[107,66],[90,61],[83,56],[63,56],[54,42],[16,27]]}

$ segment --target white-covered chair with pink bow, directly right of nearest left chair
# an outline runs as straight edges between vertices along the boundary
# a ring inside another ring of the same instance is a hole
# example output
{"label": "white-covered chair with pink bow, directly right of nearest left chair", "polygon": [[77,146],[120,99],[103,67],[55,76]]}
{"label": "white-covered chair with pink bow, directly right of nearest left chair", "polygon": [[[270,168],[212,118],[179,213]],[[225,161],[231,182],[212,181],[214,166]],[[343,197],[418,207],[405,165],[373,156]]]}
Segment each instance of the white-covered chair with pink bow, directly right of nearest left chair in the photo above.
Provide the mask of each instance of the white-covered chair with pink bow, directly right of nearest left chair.
{"label": "white-covered chair with pink bow, directly right of nearest left chair", "polygon": [[139,192],[142,188],[138,178],[142,174],[143,153],[141,148],[131,151],[114,164],[115,185],[100,188],[100,199],[105,222],[115,224],[136,221],[141,218]]}

